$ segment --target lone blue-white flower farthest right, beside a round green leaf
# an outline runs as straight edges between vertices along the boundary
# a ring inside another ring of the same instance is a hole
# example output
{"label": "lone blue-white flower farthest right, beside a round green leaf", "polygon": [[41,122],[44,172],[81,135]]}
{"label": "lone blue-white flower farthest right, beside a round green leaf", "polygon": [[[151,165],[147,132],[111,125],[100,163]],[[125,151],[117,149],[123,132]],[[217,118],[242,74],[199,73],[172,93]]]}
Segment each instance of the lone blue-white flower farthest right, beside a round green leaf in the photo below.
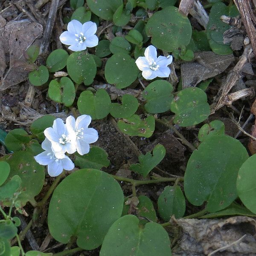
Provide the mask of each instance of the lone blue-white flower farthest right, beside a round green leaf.
{"label": "lone blue-white flower farthest right, beside a round green leaf", "polygon": [[135,62],[145,79],[151,80],[170,75],[171,70],[167,66],[172,63],[172,55],[157,57],[157,49],[153,45],[145,49],[144,55],[145,57],[139,57]]}

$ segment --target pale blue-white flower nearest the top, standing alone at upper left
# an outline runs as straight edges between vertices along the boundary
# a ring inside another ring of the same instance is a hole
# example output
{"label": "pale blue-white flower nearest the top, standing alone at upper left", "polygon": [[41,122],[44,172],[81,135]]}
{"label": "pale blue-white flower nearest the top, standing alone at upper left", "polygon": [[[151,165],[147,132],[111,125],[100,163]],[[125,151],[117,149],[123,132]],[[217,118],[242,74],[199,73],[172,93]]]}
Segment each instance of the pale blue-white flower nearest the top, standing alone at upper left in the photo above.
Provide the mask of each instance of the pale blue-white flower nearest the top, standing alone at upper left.
{"label": "pale blue-white flower nearest the top, standing alone at upper left", "polygon": [[67,31],[60,35],[62,44],[70,45],[68,49],[78,52],[87,47],[95,47],[99,43],[99,38],[94,35],[97,31],[96,23],[87,21],[84,24],[78,20],[71,20],[67,24]]}

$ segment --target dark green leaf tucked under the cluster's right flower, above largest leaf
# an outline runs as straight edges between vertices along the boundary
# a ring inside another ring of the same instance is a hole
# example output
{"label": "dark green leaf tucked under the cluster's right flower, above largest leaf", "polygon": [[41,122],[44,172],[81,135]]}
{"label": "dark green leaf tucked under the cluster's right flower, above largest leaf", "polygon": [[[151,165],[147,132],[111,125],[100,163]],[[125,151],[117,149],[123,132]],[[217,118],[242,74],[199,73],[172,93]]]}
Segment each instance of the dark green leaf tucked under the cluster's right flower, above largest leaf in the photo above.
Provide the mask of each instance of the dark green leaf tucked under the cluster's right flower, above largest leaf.
{"label": "dark green leaf tucked under the cluster's right flower, above largest leaf", "polygon": [[108,160],[108,153],[100,147],[91,146],[88,154],[81,156],[80,154],[75,154],[76,159],[74,161],[76,166],[81,169],[102,169],[102,167],[108,167],[110,161]]}

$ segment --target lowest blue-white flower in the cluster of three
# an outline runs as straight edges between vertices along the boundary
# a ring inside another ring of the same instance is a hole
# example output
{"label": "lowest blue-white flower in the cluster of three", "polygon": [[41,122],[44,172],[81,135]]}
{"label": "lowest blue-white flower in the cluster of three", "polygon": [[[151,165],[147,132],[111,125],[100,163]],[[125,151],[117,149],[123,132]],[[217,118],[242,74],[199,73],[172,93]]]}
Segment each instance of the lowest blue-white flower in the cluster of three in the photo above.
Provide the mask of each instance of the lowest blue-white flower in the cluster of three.
{"label": "lowest blue-white flower in the cluster of three", "polygon": [[48,166],[50,176],[55,177],[60,175],[63,169],[67,171],[74,169],[74,163],[63,152],[59,152],[58,157],[56,157],[49,140],[45,139],[43,141],[42,148],[45,151],[36,155],[34,158],[39,164]]}

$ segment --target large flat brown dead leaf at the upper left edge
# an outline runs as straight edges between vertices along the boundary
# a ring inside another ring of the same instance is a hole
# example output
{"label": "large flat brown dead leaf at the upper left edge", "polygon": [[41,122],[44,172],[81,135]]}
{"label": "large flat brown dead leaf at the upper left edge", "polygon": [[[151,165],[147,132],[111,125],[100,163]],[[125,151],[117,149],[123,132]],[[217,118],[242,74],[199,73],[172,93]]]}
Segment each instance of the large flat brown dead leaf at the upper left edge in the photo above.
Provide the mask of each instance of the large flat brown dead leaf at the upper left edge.
{"label": "large flat brown dead leaf at the upper left edge", "polygon": [[[37,38],[42,36],[43,26],[28,20],[18,20],[7,23],[1,34],[0,54],[5,52],[9,56],[9,60],[6,59],[5,61],[7,65],[9,64],[9,69],[0,81],[0,90],[6,90],[8,87],[27,79],[29,71],[26,70],[26,65],[15,66],[15,63],[26,61],[25,51]],[[1,72],[4,66],[0,67]]]}

